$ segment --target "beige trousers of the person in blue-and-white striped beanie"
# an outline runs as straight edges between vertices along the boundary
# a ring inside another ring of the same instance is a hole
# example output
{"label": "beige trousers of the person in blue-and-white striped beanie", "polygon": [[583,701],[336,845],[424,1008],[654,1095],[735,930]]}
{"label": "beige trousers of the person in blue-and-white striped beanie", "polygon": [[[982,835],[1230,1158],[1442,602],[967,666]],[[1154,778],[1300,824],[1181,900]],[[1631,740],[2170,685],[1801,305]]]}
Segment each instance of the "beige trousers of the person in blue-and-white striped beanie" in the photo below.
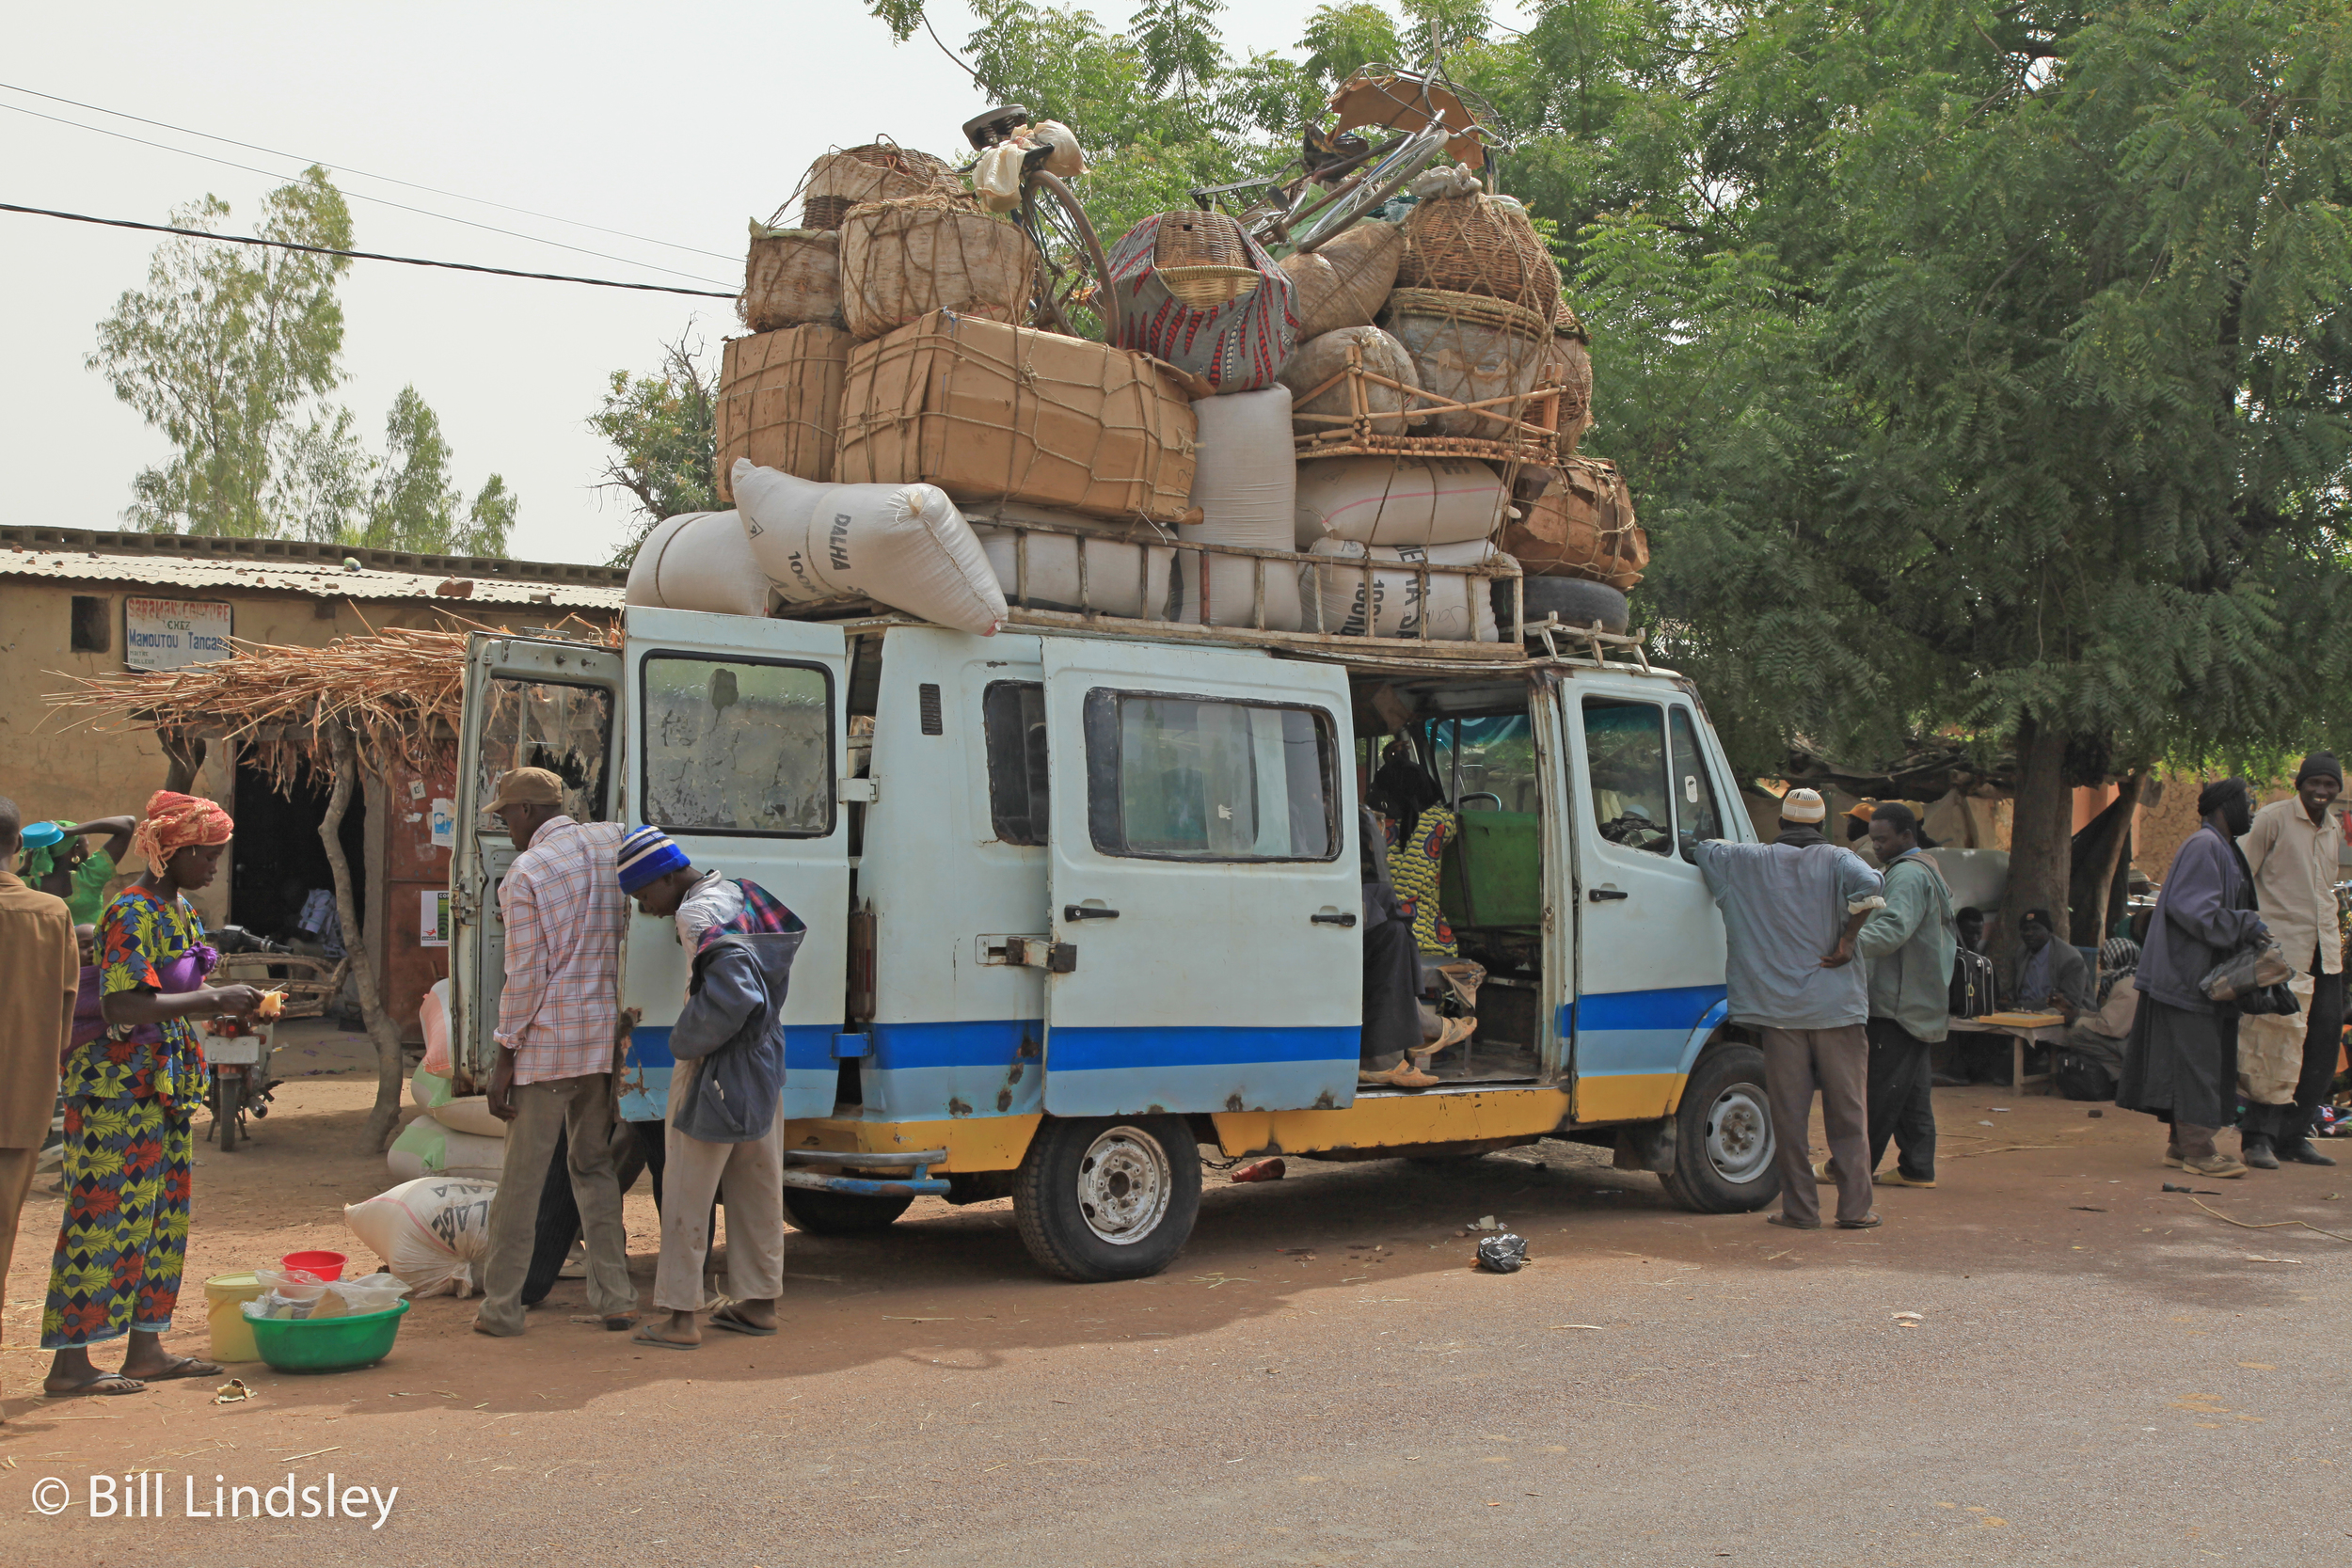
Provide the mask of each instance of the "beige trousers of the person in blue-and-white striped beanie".
{"label": "beige trousers of the person in blue-and-white striped beanie", "polygon": [[750,1143],[703,1143],[668,1128],[661,1204],[661,1267],[654,1305],[703,1309],[710,1258],[710,1197],[727,1197],[727,1295],[764,1302],[783,1295],[783,1110]]}

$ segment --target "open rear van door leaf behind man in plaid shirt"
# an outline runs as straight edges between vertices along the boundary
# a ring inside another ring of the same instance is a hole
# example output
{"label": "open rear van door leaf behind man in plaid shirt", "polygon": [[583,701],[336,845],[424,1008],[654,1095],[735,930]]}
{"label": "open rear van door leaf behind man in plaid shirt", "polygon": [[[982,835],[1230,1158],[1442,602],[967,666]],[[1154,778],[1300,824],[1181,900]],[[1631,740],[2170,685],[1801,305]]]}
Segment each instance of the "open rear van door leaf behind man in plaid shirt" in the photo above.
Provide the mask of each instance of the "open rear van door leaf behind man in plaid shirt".
{"label": "open rear van door leaf behind man in plaid shirt", "polygon": [[[466,642],[459,724],[456,853],[449,858],[449,1039],[466,1088],[489,1084],[506,924],[499,879],[515,863],[506,825],[482,811],[513,769],[550,769],[581,823],[621,816],[621,656],[581,642],[475,632]],[[395,912],[393,919],[400,919]],[[461,1093],[466,1091],[461,1088]]]}

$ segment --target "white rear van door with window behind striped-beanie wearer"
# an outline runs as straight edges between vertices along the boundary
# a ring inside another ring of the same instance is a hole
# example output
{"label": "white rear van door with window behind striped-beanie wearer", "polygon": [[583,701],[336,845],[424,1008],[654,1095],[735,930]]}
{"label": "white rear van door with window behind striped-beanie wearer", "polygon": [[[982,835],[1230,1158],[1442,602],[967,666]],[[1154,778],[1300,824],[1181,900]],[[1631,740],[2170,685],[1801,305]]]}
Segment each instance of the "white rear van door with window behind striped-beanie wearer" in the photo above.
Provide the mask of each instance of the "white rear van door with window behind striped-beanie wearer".
{"label": "white rear van door with window behind striped-beanie wearer", "polygon": [[[847,639],[833,625],[635,604],[623,625],[630,820],[807,922],[783,1006],[783,1114],[830,1117],[849,973],[849,813],[837,799]],[[663,1114],[687,959],[675,922],[630,907],[621,1004],[644,1018],[623,1119]]]}

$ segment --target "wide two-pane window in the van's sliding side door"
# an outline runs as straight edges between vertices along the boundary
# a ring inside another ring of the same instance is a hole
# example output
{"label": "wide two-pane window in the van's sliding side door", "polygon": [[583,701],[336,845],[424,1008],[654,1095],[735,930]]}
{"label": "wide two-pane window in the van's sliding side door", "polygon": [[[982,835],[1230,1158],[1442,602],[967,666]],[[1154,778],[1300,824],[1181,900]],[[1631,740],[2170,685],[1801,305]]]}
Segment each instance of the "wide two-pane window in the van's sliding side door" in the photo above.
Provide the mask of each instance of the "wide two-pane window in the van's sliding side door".
{"label": "wide two-pane window in the van's sliding side door", "polygon": [[1087,823],[1105,856],[1334,860],[1334,766],[1319,708],[1087,693]]}

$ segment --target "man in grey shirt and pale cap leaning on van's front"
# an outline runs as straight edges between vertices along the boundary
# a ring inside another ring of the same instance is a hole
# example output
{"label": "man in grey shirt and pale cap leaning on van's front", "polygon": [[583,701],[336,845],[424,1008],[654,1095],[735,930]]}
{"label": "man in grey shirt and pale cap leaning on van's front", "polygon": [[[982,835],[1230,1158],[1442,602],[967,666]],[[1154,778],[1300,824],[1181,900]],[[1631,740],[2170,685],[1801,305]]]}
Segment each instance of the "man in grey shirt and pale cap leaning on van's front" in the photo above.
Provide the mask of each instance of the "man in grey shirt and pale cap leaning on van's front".
{"label": "man in grey shirt and pale cap leaning on van's front", "polygon": [[1724,910],[1724,980],[1731,1023],[1759,1032],[1771,1095],[1780,1213],[1773,1225],[1820,1229],[1806,1154],[1813,1088],[1837,1166],[1839,1229],[1870,1229],[1870,997],[1853,943],[1886,903],[1879,875],[1820,835],[1828,809],[1813,790],[1780,802],[1771,844],[1698,842],[1691,860]]}

